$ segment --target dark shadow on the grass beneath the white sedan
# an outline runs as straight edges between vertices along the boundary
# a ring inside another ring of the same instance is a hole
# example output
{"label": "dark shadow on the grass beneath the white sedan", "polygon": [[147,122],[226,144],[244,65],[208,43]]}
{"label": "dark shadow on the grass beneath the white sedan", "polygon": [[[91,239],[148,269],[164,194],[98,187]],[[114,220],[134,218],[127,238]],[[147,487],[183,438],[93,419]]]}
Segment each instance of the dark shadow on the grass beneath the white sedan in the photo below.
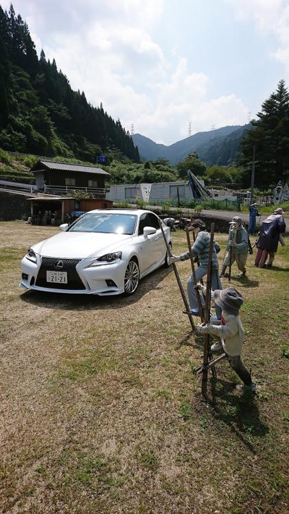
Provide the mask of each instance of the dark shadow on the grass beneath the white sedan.
{"label": "dark shadow on the grass beneath the white sedan", "polygon": [[35,306],[60,310],[106,310],[120,309],[136,304],[152,289],[161,289],[159,284],[172,272],[171,268],[159,268],[139,282],[137,291],[131,296],[97,296],[67,293],[49,293],[44,291],[25,291],[20,298],[23,302]]}

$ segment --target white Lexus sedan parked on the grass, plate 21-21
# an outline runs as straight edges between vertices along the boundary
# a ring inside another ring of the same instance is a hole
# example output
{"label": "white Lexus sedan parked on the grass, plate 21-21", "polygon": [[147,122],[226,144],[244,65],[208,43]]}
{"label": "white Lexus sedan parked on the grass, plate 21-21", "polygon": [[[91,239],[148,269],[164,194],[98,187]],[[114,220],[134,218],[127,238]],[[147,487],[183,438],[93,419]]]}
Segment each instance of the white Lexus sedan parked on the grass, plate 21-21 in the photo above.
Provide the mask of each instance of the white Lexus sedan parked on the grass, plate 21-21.
{"label": "white Lexus sedan parked on the grass, plate 21-21", "polygon": [[[172,246],[170,228],[163,221],[162,227]],[[141,278],[168,266],[159,217],[148,210],[91,210],[60,230],[28,249],[21,261],[21,288],[131,295]]]}

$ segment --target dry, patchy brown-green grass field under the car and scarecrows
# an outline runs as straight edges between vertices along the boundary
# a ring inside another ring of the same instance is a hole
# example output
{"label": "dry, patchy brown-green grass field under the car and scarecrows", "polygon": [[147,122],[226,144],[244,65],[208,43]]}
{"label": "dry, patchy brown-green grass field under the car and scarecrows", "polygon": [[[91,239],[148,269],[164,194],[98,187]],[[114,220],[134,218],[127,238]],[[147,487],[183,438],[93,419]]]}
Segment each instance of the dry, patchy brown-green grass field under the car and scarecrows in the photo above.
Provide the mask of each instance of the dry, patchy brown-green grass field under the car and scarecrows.
{"label": "dry, patchy brown-green grass field under the car and scarecrows", "polygon": [[2,513],[288,513],[288,238],[273,269],[233,268],[257,395],[222,361],[206,403],[172,271],[129,298],[23,292],[25,249],[58,229],[0,230]]}

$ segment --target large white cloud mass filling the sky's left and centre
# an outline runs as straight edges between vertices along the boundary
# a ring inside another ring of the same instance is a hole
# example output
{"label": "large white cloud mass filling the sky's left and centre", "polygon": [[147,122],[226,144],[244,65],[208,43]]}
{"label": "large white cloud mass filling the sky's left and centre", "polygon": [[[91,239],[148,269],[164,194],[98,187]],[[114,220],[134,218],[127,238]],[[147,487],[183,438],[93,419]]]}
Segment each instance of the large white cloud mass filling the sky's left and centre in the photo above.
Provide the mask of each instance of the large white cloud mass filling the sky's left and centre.
{"label": "large white cloud mass filling the sky's left and centre", "polygon": [[233,92],[210,99],[205,73],[176,55],[168,61],[152,37],[164,0],[14,0],[14,8],[38,52],[43,47],[73,89],[94,106],[102,101],[128,130],[134,123],[135,132],[170,144],[187,137],[189,121],[193,132],[246,122],[248,108]]}

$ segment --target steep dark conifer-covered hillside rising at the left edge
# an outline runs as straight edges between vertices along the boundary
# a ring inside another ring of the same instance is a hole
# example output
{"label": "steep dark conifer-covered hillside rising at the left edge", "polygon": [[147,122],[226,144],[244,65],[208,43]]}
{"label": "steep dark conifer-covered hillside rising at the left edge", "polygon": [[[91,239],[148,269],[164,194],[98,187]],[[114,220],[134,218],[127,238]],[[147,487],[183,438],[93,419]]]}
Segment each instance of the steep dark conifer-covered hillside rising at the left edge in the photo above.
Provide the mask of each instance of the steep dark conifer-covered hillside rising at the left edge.
{"label": "steep dark conifer-covered hillside rising at the left edge", "polygon": [[139,162],[139,152],[120,121],[73,91],[69,80],[41,52],[11,5],[0,5],[0,147],[41,156],[95,162],[105,153]]}

